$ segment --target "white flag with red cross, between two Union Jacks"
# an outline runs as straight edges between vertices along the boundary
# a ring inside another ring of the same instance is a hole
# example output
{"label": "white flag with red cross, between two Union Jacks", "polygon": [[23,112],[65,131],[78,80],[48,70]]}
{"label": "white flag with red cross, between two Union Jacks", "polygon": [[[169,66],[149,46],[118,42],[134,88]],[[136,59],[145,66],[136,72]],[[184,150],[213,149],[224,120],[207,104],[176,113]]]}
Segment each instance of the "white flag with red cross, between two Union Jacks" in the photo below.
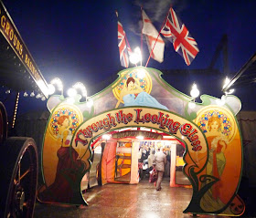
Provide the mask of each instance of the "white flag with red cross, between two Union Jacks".
{"label": "white flag with red cross, between two Union Jacks", "polygon": [[153,51],[152,57],[156,61],[162,63],[164,61],[165,42],[145,14],[144,10],[142,10],[142,14],[144,22],[143,34],[146,37],[149,53],[151,54],[151,51]]}

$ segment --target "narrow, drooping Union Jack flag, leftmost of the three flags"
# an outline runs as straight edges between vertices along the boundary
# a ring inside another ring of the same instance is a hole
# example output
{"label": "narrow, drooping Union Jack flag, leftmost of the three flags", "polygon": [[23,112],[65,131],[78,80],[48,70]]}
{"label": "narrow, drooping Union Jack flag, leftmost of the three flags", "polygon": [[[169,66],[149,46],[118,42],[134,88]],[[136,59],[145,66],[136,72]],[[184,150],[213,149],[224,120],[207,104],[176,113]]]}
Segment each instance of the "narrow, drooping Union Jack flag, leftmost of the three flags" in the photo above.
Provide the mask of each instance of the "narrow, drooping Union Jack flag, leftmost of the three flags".
{"label": "narrow, drooping Union Jack flag, leftmost of the three flags", "polygon": [[123,25],[119,21],[117,22],[117,30],[120,62],[123,67],[129,67],[128,48],[125,42],[125,32],[123,30]]}

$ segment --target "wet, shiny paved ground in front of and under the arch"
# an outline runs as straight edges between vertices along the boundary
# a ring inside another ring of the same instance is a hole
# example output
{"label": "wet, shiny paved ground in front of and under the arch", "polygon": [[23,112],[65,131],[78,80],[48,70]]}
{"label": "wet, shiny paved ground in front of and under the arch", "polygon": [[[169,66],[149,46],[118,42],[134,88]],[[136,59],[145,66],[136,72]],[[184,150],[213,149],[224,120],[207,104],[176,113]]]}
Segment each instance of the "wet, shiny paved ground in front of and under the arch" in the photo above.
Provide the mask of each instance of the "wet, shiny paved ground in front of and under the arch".
{"label": "wet, shiny paved ground in front of and under the arch", "polygon": [[[157,192],[154,184],[147,181],[137,185],[109,183],[94,187],[90,192],[85,193],[84,197],[89,202],[89,206],[75,207],[37,203],[34,218],[192,217],[183,213],[191,200],[192,189],[171,188],[166,180],[163,182],[162,188]],[[200,217],[214,216],[202,215]]]}

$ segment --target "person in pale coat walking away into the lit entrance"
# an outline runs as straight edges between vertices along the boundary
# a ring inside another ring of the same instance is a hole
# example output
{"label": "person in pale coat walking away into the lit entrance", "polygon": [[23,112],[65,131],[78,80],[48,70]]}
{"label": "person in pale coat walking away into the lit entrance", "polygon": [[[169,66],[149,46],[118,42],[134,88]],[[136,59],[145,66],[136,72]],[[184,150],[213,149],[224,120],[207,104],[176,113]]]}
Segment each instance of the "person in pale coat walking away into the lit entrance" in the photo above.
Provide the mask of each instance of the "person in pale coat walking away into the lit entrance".
{"label": "person in pale coat walking away into the lit entrance", "polygon": [[160,149],[158,149],[158,152],[155,154],[154,162],[155,162],[155,169],[158,175],[157,181],[156,181],[156,191],[160,191],[161,182],[163,180],[165,164],[166,164],[165,149],[163,149],[163,151],[160,151]]}

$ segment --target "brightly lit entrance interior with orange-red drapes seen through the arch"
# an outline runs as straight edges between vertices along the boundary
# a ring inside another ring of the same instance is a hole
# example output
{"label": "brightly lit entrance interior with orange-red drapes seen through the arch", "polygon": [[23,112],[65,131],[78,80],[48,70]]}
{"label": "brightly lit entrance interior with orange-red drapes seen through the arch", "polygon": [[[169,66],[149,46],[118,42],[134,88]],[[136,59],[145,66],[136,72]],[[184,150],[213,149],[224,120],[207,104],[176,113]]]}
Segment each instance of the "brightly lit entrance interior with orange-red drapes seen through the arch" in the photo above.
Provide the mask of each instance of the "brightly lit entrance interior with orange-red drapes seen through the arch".
{"label": "brightly lit entrance interior with orange-red drapes seen through the arch", "polygon": [[155,153],[165,151],[164,178],[171,187],[191,187],[182,168],[185,144],[159,130],[125,128],[101,135],[91,143],[91,169],[81,181],[81,191],[106,183],[149,181]]}

